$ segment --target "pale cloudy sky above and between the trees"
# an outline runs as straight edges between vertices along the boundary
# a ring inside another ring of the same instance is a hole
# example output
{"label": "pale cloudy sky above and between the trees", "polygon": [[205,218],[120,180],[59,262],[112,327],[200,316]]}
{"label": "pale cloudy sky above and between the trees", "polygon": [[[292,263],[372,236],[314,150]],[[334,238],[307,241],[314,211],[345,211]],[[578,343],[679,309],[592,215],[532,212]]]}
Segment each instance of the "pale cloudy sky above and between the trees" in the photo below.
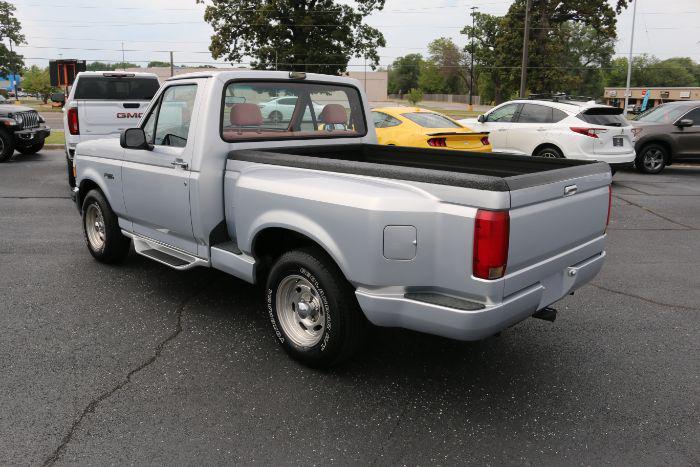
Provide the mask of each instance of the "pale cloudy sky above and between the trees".
{"label": "pale cloudy sky above and between the trees", "polygon": [[[217,65],[208,52],[211,27],[203,20],[203,5],[194,0],[10,0],[17,7],[27,45],[19,49],[27,65],[47,66],[49,59],[77,58],[88,62],[126,61],[145,66],[150,60],[176,64]],[[343,0],[343,3],[352,3]],[[381,65],[408,53],[426,54],[427,44],[459,33],[470,21],[469,8],[503,15],[512,0],[387,0],[383,11],[367,18],[380,29],[387,47]],[[613,3],[613,0],[610,0]],[[633,53],[659,58],[691,57],[700,62],[700,0],[636,0]],[[629,52],[632,7],[619,17],[616,53]],[[223,61],[219,61],[224,65]],[[364,69],[362,59],[350,70]]]}

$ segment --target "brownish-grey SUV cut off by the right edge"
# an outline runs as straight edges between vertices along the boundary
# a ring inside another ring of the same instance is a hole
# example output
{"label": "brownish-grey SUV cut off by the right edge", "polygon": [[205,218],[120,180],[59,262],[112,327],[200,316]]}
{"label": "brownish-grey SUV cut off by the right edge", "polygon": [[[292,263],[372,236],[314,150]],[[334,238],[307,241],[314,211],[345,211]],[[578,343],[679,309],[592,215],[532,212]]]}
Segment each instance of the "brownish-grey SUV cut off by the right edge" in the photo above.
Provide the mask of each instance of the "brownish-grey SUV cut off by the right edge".
{"label": "brownish-grey SUV cut off by the right edge", "polygon": [[640,172],[657,174],[674,162],[700,161],[700,101],[661,104],[632,126]]}

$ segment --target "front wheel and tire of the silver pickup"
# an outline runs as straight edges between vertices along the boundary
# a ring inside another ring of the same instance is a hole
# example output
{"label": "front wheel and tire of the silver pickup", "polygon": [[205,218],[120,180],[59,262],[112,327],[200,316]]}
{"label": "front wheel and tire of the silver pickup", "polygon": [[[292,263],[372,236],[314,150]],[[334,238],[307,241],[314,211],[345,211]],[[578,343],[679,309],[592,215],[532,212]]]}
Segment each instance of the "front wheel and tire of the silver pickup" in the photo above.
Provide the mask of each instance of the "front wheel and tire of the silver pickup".
{"label": "front wheel and tire of the silver pickup", "polygon": [[82,214],[83,234],[90,254],[107,264],[126,258],[131,240],[122,235],[116,214],[99,190],[90,190],[85,196]]}

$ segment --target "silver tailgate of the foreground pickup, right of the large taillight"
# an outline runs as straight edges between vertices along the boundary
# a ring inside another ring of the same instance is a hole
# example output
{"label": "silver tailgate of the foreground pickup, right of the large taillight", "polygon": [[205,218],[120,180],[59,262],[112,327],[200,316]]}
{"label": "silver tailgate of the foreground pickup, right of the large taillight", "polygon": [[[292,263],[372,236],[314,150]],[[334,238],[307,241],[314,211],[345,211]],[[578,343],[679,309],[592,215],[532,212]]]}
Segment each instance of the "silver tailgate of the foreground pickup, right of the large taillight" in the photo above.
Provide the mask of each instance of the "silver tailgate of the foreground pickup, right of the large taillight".
{"label": "silver tailgate of the foreground pickup, right of the large taillight", "polygon": [[563,280],[569,267],[603,252],[611,176],[598,167],[597,174],[511,191],[505,295]]}

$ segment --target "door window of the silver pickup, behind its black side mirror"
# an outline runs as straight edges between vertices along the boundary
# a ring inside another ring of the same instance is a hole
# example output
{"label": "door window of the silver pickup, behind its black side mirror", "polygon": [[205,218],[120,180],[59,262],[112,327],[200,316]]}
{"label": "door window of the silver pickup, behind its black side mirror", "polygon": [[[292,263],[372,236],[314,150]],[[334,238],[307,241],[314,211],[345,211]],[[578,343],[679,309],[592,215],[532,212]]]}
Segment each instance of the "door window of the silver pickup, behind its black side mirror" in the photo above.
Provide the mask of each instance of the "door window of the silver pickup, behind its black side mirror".
{"label": "door window of the silver pickup, behind its black side mirror", "polygon": [[187,144],[196,95],[196,84],[171,86],[163,92],[153,144],[179,148]]}

